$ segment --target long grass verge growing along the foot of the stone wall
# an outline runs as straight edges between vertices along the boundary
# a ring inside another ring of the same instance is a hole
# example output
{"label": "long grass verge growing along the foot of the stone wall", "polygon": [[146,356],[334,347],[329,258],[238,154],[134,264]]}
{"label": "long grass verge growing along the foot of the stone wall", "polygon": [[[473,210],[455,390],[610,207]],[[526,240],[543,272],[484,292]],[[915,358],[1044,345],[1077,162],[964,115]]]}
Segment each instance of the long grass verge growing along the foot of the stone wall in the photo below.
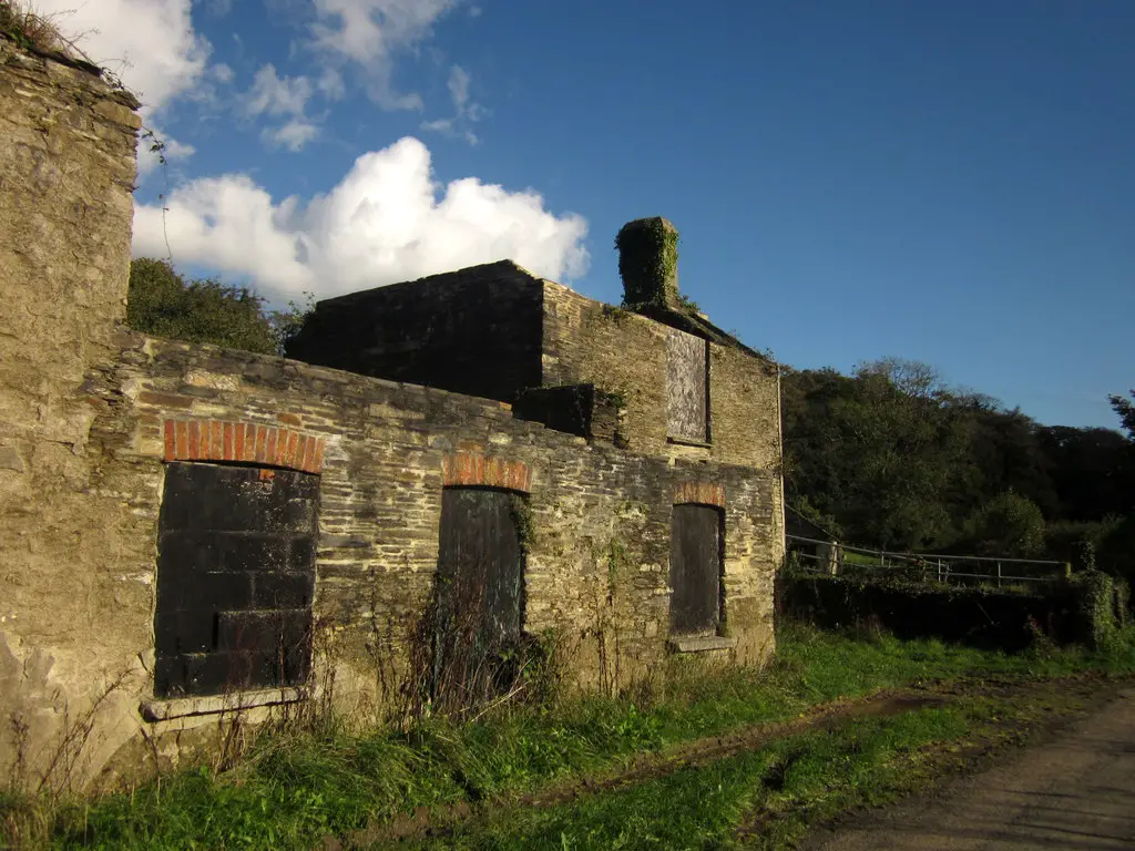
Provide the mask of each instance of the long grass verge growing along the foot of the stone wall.
{"label": "long grass verge growing along the foot of the stone wall", "polygon": [[[662,684],[637,690],[633,699],[580,698],[498,711],[461,726],[431,721],[409,733],[276,733],[262,736],[224,773],[185,770],[128,794],[50,807],[9,795],[0,799],[0,819],[9,835],[22,833],[33,845],[308,849],[326,835],[343,836],[421,808],[507,804],[524,792],[624,765],[642,752],[782,721],[809,706],[883,688],[965,676],[1135,671],[1129,633],[1108,652],[1016,656],[938,641],[865,640],[798,625],[782,629],[779,641],[776,663],[762,673],[714,674],[675,665]],[[735,765],[730,759],[718,766],[732,765],[748,777],[764,758],[745,755],[733,758],[740,760]],[[699,770],[716,776],[718,767]],[[723,790],[733,787],[729,777],[718,780]],[[745,785],[735,782],[738,790]],[[650,787],[644,784],[640,793],[649,794]]]}

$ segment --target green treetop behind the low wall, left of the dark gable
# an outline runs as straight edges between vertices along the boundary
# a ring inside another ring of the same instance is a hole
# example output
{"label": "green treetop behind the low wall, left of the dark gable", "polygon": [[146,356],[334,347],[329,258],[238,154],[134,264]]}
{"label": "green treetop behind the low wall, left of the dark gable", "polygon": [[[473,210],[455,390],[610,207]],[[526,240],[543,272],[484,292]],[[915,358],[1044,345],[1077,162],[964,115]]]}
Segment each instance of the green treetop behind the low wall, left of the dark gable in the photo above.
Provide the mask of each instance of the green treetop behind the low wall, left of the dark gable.
{"label": "green treetop behind the low wall, left of the dark gable", "polygon": [[131,263],[126,322],[136,331],[187,343],[212,343],[260,354],[281,354],[311,311],[288,303],[268,311],[264,300],[217,278],[186,281],[165,260],[138,258]]}

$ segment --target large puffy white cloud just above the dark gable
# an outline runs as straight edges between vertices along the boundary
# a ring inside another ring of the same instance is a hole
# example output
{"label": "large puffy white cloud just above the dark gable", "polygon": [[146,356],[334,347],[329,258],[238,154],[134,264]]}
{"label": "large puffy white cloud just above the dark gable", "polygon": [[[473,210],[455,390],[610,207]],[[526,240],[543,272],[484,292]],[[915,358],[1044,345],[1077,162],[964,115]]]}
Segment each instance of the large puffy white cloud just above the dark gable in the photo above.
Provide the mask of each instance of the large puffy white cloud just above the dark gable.
{"label": "large puffy white cloud just above the dark gable", "polygon": [[135,256],[250,276],[276,296],[319,296],[393,284],[501,259],[549,278],[578,278],[589,258],[579,216],[555,216],[533,191],[470,177],[432,178],[412,137],[365,153],[326,195],[279,203],[245,175],[193,180],[160,207],[134,211]]}

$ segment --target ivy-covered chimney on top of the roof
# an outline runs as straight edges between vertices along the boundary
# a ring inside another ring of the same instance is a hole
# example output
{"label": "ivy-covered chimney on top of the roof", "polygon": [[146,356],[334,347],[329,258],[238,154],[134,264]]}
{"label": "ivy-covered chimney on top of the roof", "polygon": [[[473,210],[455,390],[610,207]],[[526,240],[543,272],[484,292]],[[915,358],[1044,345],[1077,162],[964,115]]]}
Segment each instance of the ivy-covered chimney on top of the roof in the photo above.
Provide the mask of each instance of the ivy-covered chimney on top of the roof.
{"label": "ivy-covered chimney on top of the roof", "polygon": [[623,304],[680,309],[678,228],[662,217],[628,221],[615,237]]}

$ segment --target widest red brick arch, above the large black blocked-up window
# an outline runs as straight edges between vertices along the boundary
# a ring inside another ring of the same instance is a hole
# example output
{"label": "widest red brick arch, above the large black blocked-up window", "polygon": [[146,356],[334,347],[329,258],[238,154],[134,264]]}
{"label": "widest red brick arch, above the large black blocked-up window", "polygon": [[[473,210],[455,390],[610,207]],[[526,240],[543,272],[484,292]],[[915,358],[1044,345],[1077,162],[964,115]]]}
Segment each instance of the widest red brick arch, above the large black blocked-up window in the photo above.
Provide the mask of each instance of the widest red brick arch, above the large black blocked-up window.
{"label": "widest red brick arch, above the large black blocked-up window", "polygon": [[319,473],[326,437],[225,420],[166,420],[166,461],[232,461]]}

